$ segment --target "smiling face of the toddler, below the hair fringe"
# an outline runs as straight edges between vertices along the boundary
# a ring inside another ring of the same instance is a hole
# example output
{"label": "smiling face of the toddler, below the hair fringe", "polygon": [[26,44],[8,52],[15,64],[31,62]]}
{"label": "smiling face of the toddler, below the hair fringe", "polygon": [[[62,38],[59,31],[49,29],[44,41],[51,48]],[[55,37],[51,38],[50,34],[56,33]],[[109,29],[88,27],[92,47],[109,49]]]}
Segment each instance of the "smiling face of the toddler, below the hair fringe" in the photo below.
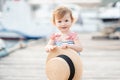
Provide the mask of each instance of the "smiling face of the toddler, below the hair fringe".
{"label": "smiling face of the toddler, below the hair fringe", "polygon": [[72,25],[70,14],[65,14],[64,17],[61,19],[55,18],[55,25],[61,32],[68,32]]}

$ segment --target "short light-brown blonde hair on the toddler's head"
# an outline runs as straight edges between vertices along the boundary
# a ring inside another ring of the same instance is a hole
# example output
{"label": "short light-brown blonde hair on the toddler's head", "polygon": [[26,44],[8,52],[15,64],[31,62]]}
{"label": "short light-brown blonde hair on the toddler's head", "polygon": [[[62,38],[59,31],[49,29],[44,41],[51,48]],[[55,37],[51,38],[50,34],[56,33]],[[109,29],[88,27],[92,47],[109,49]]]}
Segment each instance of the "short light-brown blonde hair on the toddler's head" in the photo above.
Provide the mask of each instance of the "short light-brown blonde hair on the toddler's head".
{"label": "short light-brown blonde hair on the toddler's head", "polygon": [[52,22],[53,24],[55,24],[55,18],[57,19],[61,19],[64,17],[64,15],[66,14],[70,14],[71,20],[72,22],[74,21],[73,15],[72,15],[72,11],[65,7],[65,6],[59,6],[57,7],[54,11],[53,11],[53,15],[52,15]]}

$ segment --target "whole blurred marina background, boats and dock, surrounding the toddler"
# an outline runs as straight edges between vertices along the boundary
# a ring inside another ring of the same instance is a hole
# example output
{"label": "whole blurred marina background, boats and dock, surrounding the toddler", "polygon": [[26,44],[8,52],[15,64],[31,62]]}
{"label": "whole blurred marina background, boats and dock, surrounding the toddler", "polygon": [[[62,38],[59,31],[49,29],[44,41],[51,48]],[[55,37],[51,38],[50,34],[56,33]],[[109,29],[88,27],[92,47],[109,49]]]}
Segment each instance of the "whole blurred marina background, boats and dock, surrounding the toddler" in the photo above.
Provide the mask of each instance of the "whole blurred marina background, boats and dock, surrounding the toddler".
{"label": "whole blurred marina background, boats and dock, surrounding the toddler", "polygon": [[47,80],[44,47],[61,4],[76,18],[82,80],[120,79],[120,0],[0,0],[0,80]]}

